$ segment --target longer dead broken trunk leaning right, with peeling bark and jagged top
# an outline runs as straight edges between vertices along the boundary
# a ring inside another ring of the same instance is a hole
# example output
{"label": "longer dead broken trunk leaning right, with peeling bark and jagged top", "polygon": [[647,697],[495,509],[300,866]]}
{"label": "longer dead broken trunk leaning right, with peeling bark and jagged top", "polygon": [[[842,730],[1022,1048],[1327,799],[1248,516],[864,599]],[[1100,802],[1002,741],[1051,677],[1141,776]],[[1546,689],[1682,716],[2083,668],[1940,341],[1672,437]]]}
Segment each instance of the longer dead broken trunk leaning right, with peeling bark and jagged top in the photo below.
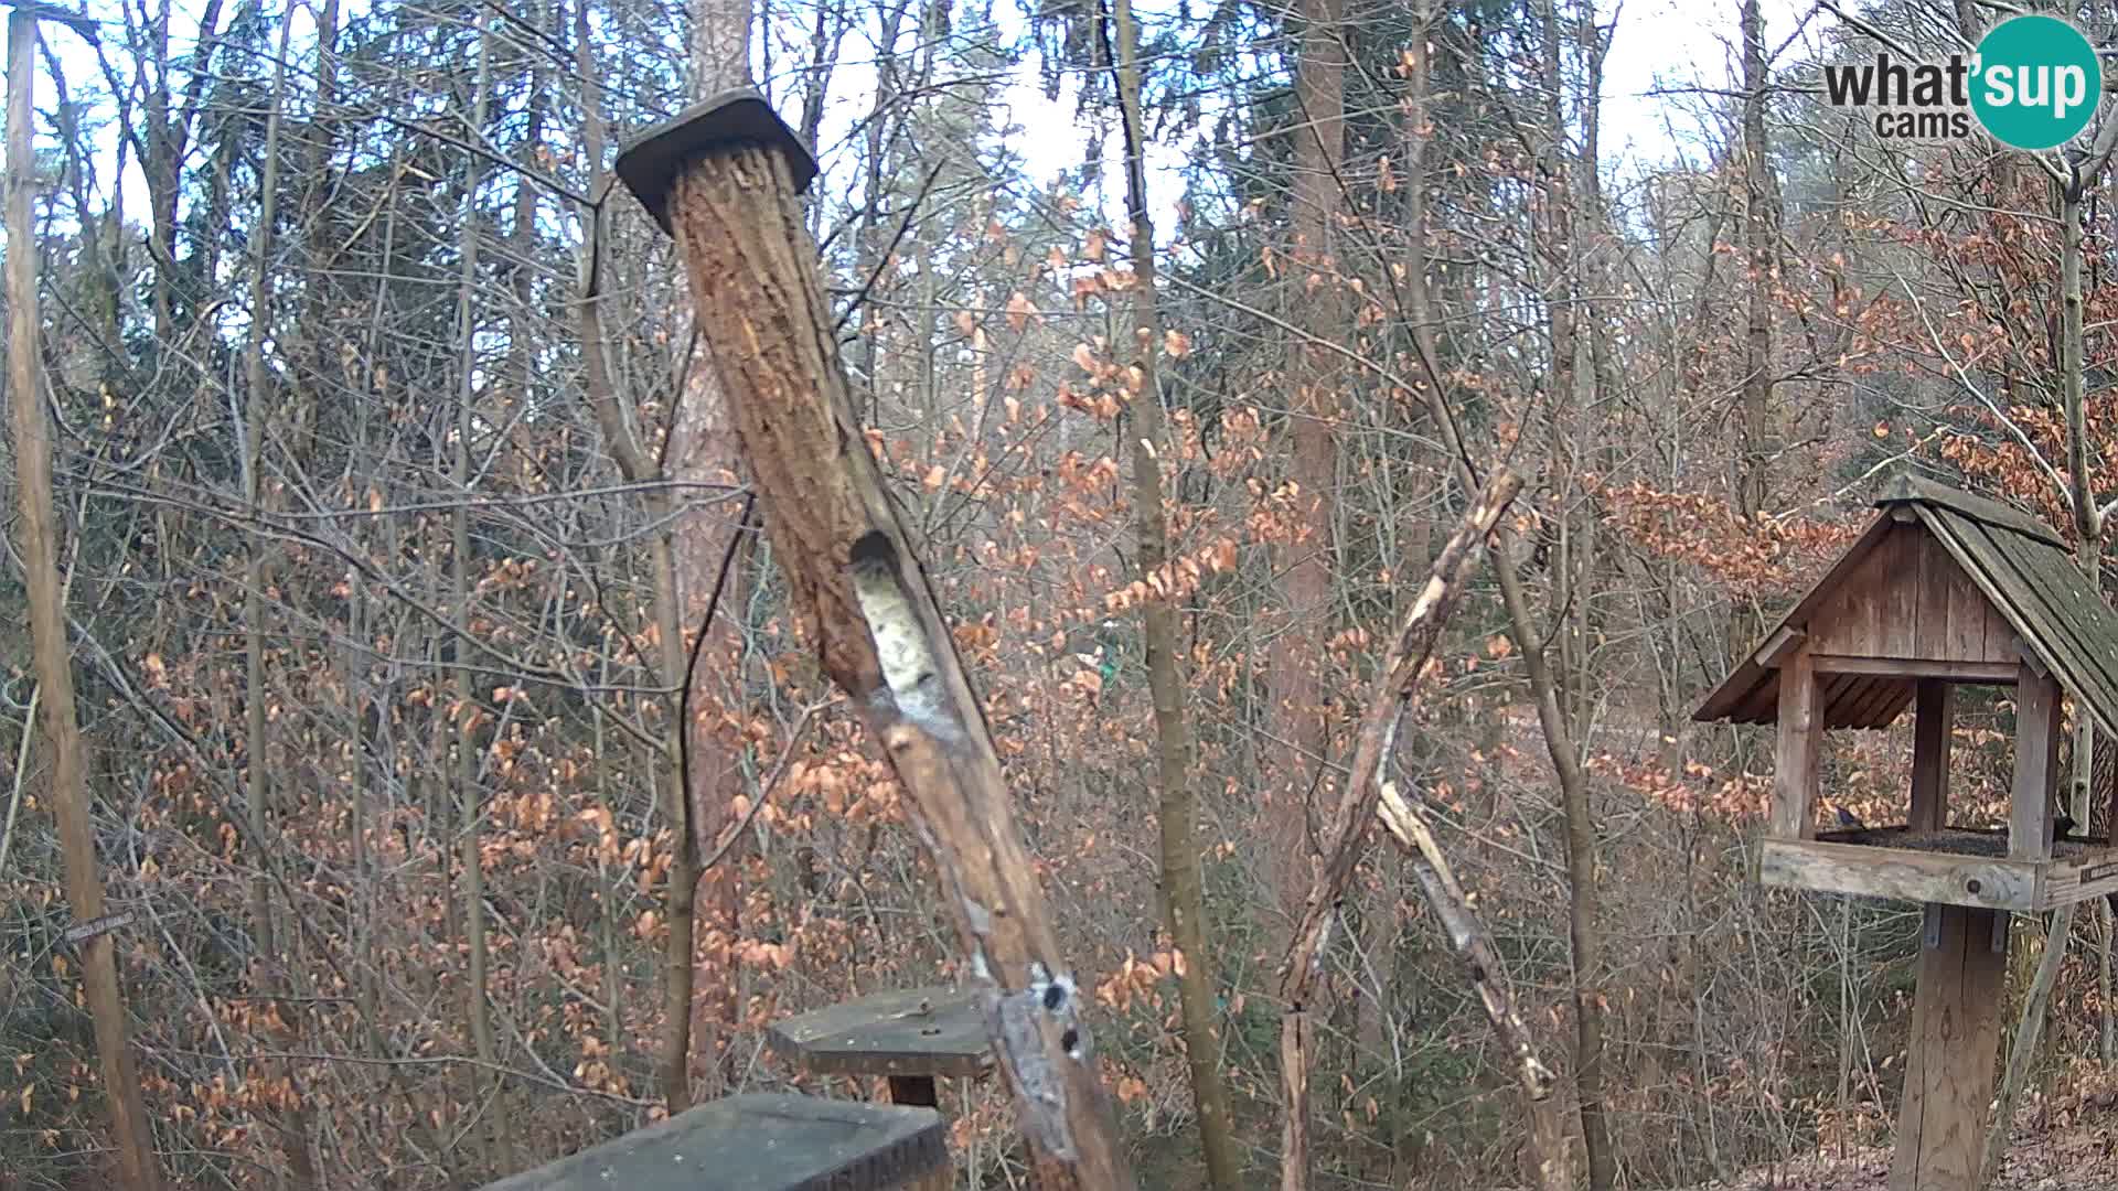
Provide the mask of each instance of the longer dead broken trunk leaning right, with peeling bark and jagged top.
{"label": "longer dead broken trunk leaning right, with peeling bark and jagged top", "polygon": [[1286,1121],[1279,1132],[1281,1191],[1309,1187],[1309,1062],[1315,1049],[1309,1000],[1324,975],[1324,952],[1330,945],[1330,926],[1339,918],[1345,886],[1368,843],[1379,780],[1389,765],[1398,723],[1419,691],[1442,625],[1455,610],[1464,583],[1485,551],[1487,534],[1500,523],[1502,511],[1521,487],[1521,477],[1508,468],[1495,468],[1485,492],[1464,513],[1464,526],[1434,559],[1425,587],[1404,617],[1404,627],[1398,629],[1398,640],[1383,663],[1383,682],[1360,718],[1351,774],[1347,774],[1339,803],[1324,824],[1324,858],[1309,886],[1309,899],[1303,903],[1294,941],[1279,964],[1279,1000],[1286,1007],[1279,1017],[1279,1085],[1286,1096]]}

